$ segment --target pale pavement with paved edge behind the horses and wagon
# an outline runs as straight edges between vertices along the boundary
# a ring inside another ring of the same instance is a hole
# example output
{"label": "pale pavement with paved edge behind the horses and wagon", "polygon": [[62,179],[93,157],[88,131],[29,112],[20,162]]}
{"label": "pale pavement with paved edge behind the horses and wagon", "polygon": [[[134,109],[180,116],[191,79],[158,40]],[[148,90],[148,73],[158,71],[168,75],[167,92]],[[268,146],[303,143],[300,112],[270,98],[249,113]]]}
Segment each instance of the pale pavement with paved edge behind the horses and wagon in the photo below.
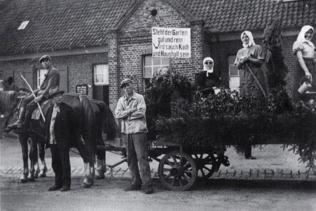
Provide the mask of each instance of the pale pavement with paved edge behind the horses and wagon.
{"label": "pale pavement with paved edge behind the horses and wagon", "polygon": [[[222,166],[211,178],[214,179],[249,179],[249,180],[307,180],[315,181],[316,175],[306,172],[306,164],[297,161],[298,155],[283,150],[280,145],[266,145],[254,148],[256,160],[246,160],[243,155],[236,154],[234,148],[228,148],[225,155],[231,163],[229,167]],[[70,153],[71,175],[81,177],[84,173],[82,158]],[[122,156],[107,152],[106,177],[130,177],[126,162],[114,168],[110,166],[119,162]],[[21,146],[16,138],[1,139],[1,177],[20,177],[22,173]],[[50,151],[46,150],[47,176],[53,177]],[[152,176],[158,177],[158,162],[150,163]]]}

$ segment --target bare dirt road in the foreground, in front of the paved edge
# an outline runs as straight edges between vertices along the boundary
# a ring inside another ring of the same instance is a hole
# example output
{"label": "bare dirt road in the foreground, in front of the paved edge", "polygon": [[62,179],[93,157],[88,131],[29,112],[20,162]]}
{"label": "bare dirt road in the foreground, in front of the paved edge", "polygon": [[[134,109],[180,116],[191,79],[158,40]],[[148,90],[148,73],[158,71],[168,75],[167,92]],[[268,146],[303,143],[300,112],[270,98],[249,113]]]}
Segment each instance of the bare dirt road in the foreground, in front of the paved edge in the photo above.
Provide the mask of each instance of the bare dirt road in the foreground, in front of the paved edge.
{"label": "bare dirt road in the foreground, in front of the paved edge", "polygon": [[173,192],[155,180],[155,192],[125,192],[125,178],[106,178],[90,189],[72,179],[69,192],[46,189],[53,177],[34,183],[1,179],[1,211],[9,210],[316,210],[315,183],[289,181],[198,181],[189,191]]}

